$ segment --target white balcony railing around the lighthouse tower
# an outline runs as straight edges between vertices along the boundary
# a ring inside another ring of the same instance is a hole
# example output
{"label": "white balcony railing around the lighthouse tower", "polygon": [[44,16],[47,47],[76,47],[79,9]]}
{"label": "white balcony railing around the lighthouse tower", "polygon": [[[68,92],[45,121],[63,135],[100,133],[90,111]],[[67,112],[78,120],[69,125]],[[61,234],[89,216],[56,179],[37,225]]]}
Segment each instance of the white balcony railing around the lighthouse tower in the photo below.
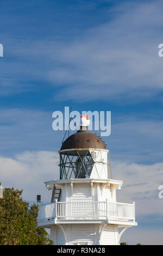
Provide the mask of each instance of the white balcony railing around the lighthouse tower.
{"label": "white balcony railing around the lighthouse tower", "polygon": [[56,202],[39,207],[38,222],[59,219],[102,219],[135,221],[135,204],[117,202]]}

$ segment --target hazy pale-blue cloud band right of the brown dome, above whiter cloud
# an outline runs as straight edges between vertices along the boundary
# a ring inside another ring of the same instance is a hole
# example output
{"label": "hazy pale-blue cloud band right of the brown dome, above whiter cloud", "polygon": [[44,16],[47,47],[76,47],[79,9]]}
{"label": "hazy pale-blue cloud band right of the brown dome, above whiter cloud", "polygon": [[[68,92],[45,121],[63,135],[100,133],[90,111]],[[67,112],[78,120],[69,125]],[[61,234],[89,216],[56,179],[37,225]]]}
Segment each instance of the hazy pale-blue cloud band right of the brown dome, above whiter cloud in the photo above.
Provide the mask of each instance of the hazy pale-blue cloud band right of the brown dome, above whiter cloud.
{"label": "hazy pale-blue cloud band right of the brown dome, above whiter cloud", "polygon": [[104,140],[113,160],[136,163],[162,162],[163,123],[153,115],[144,117],[112,115],[111,135]]}

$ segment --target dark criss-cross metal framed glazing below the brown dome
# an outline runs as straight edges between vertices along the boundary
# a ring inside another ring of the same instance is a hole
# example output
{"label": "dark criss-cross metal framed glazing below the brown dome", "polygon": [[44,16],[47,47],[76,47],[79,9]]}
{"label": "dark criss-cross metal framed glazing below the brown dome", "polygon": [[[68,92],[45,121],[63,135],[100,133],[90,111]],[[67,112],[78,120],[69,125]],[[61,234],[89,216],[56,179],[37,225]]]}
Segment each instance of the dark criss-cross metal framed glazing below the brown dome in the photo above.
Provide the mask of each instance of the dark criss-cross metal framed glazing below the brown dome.
{"label": "dark criss-cross metal framed glazing below the brown dome", "polygon": [[61,150],[60,153],[60,179],[89,179],[93,158],[89,150]]}

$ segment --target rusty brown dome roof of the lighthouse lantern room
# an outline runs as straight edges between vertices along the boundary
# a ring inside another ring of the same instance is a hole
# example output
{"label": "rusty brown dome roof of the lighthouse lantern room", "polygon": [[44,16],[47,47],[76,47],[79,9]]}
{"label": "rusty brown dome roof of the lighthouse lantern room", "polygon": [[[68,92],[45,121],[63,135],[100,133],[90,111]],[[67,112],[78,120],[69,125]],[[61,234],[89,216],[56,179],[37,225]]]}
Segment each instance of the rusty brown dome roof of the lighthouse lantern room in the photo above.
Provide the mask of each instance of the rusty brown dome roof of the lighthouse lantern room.
{"label": "rusty brown dome roof of the lighthouse lantern room", "polygon": [[68,137],[66,141],[62,144],[60,150],[76,148],[106,149],[103,141],[98,136],[91,133],[89,130],[79,130],[70,137]]}

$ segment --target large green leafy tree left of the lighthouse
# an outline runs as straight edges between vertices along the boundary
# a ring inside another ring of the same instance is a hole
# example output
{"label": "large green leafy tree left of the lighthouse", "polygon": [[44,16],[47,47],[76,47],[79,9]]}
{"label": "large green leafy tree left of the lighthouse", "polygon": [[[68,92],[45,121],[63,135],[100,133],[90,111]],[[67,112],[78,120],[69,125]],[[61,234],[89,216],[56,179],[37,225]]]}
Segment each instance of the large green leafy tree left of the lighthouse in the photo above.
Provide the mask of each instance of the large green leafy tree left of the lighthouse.
{"label": "large green leafy tree left of the lighthouse", "polygon": [[0,245],[52,245],[47,232],[37,227],[39,207],[23,201],[22,190],[5,188],[0,199]]}

